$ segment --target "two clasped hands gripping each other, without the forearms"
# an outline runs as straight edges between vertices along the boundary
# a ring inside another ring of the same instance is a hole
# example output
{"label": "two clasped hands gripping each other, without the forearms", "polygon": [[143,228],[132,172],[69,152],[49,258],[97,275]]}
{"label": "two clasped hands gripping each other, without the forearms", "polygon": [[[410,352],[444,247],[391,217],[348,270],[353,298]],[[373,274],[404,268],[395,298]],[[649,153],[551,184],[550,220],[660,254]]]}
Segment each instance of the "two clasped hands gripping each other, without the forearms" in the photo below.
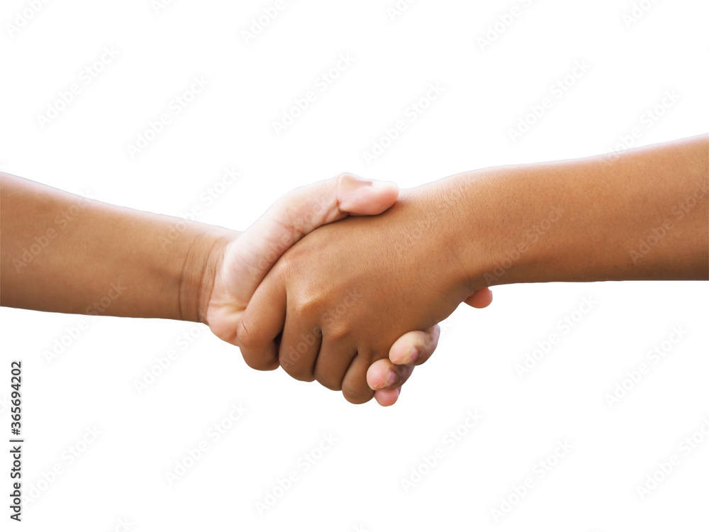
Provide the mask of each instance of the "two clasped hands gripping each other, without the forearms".
{"label": "two clasped hands gripping each other, without the forearms", "polygon": [[400,196],[340,174],[286,194],[220,248],[201,319],[250,367],[393,404],[437,323],[462,301],[491,302],[452,256],[431,187]]}

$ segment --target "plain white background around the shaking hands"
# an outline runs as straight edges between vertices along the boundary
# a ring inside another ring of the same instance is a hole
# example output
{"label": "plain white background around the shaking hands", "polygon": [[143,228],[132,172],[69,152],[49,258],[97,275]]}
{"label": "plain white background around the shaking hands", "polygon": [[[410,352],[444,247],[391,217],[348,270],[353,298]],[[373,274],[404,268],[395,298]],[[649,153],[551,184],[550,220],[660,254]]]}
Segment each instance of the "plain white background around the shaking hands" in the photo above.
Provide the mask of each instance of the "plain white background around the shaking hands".
{"label": "plain white background around the shaking hands", "polygon": [[[707,130],[703,1],[645,0],[630,23],[630,1],[420,0],[392,18],[395,0],[286,0],[248,43],[242,32],[274,2],[176,0],[157,12],[153,4],[49,1],[35,13],[31,1],[3,2],[3,170],[179,216],[205,206],[201,194],[234,167],[240,179],[200,219],[244,229],[289,189],[343,171],[412,187],[479,167],[605,153],[633,128],[635,145]],[[515,6],[519,16],[481,46]],[[31,18],[13,28],[21,13]],[[104,47],[118,56],[86,84],[84,69]],[[340,54],[352,65],[321,91],[316,80]],[[577,61],[590,68],[557,98],[552,85]],[[208,86],[175,113],[171,102],[195,76]],[[42,127],[38,115],[74,83],[79,94]],[[408,106],[431,83],[445,92],[409,121]],[[308,90],[316,101],[277,135],[274,121]],[[648,121],[666,91],[679,99]],[[509,129],[545,96],[552,108],[513,142]],[[166,112],[169,124],[131,157],[128,145]],[[362,152],[399,119],[406,131],[368,165]],[[494,294],[489,309],[461,307],[449,318],[437,353],[389,409],[348,404],[281,370],[250,370],[206,328],[172,321],[89,318],[50,363],[48,350],[83,317],[1,309],[0,433],[6,441],[9,363],[21,359],[23,487],[37,497],[19,526],[8,524],[5,497],[0,528],[111,531],[127,518],[135,531],[707,530],[708,437],[698,433],[688,455],[679,445],[709,416],[709,285],[539,284]],[[593,309],[574,314],[584,297]],[[568,333],[558,326],[565,316]],[[653,364],[649,351],[673,327],[688,332]],[[186,344],[185,333],[197,338]],[[559,343],[520,379],[515,364],[552,333]],[[135,382],[171,349],[179,358],[139,394]],[[606,394],[641,362],[649,373],[610,407]],[[214,441],[208,429],[232,404],[247,412]],[[481,416],[471,430],[460,427],[469,411]],[[93,427],[100,436],[80,443]],[[456,430],[466,434],[448,445]],[[323,435],[337,442],[306,471],[303,456]],[[208,450],[170,485],[166,472],[201,440]],[[540,478],[538,462],[559,440],[573,448]],[[437,447],[445,455],[427,472],[423,459]],[[70,448],[84,452],[72,460]],[[679,466],[642,500],[637,486],[673,454]],[[55,465],[62,473],[52,479]],[[412,467],[426,474],[406,489]],[[259,513],[257,502],[272,502],[267,493],[291,472],[298,480],[275,489],[281,496]],[[527,477],[534,487],[513,495],[496,522],[492,510]]]}

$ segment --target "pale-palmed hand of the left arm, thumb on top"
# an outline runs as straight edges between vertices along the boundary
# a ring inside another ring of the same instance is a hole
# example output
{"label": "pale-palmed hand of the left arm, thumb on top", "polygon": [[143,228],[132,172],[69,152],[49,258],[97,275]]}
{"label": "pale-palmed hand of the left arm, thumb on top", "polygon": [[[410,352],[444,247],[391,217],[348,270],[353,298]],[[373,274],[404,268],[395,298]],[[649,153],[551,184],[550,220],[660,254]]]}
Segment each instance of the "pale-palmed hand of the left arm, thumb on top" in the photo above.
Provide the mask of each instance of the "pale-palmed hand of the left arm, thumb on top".
{"label": "pale-palmed hand of the left arm, thumb on top", "polygon": [[[231,240],[223,251],[218,250],[223,257],[216,268],[213,287],[207,288],[203,321],[218,338],[239,345],[241,316],[259,283],[285,250],[318,226],[348,214],[379,214],[397,196],[398,189],[393,183],[369,182],[351,174],[340,174],[286,194],[245,233]],[[418,351],[428,358],[436,345],[435,342],[421,345],[420,338],[427,336],[428,331],[413,331],[398,345],[412,349],[418,345]],[[259,369],[276,367],[277,362]],[[407,378],[399,379],[398,386]],[[383,390],[381,394],[386,397],[391,392]]]}

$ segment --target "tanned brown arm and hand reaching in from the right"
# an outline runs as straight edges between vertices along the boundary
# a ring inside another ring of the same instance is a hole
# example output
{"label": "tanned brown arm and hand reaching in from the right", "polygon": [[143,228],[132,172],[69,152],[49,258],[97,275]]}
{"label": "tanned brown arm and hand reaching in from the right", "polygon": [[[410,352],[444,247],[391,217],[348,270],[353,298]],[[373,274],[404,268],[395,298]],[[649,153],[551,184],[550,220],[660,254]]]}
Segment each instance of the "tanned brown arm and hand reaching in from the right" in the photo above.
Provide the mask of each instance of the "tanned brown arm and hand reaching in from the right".
{"label": "tanned brown arm and hand reaching in from the right", "polygon": [[[242,355],[362,403],[365,377],[388,382],[376,361],[399,336],[485,287],[708,279],[708,145],[702,135],[467,172],[401,192],[381,216],[324,226],[259,285],[238,328]],[[403,351],[393,360],[414,363]]]}

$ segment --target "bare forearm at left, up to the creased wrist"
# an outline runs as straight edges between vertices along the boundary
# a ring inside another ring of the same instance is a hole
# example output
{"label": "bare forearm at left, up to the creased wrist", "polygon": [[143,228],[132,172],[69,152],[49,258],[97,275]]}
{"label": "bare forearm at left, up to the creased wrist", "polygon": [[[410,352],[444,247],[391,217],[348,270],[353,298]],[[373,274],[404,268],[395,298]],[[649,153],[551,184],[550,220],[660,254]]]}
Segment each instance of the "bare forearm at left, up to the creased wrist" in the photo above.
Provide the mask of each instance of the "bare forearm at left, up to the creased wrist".
{"label": "bare forearm at left, up to the creased wrist", "polygon": [[203,284],[237,234],[9,174],[0,187],[4,306],[198,321]]}

